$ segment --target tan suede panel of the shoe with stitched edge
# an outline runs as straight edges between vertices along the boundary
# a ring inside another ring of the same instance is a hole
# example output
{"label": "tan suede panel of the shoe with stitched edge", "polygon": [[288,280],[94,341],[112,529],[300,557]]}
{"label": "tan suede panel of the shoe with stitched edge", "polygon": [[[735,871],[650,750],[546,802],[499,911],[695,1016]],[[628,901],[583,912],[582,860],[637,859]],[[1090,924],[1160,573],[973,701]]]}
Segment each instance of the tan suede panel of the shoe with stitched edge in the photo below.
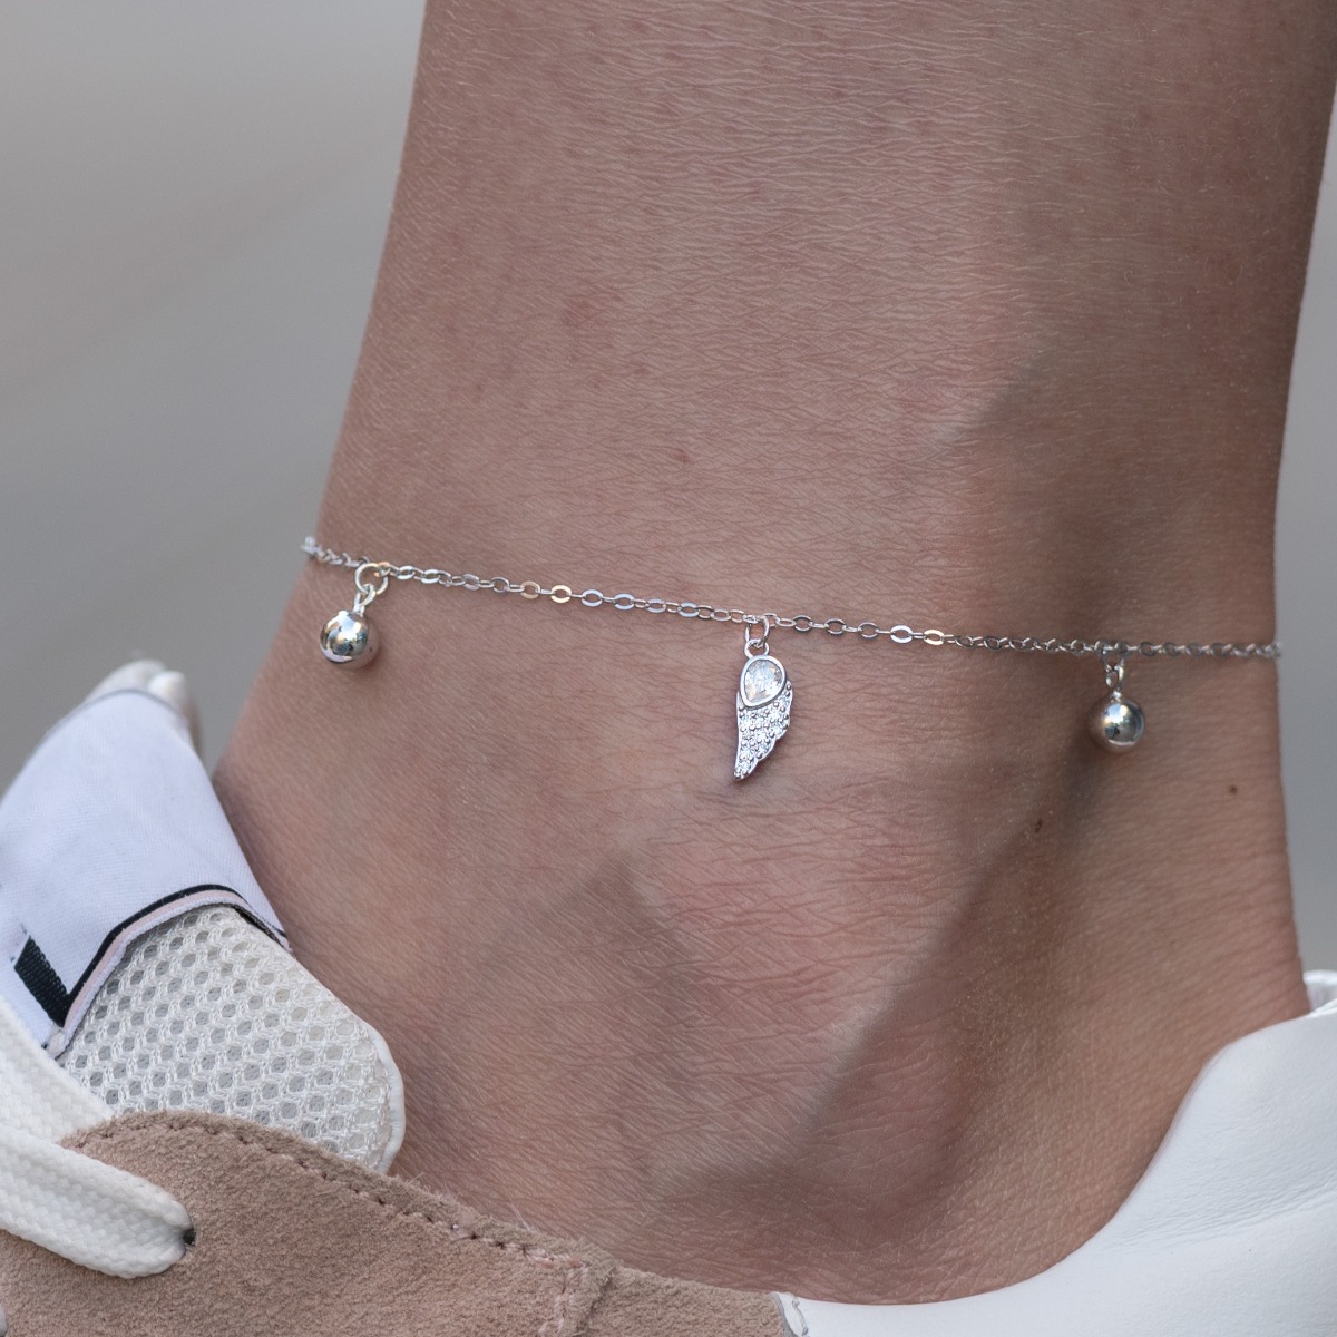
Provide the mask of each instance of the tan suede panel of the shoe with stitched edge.
{"label": "tan suede panel of the shoe with stitched edge", "polygon": [[618,1269],[299,1139],[131,1115],[72,1142],[174,1194],[195,1245],[122,1281],[0,1234],[12,1337],[785,1337],[767,1296]]}

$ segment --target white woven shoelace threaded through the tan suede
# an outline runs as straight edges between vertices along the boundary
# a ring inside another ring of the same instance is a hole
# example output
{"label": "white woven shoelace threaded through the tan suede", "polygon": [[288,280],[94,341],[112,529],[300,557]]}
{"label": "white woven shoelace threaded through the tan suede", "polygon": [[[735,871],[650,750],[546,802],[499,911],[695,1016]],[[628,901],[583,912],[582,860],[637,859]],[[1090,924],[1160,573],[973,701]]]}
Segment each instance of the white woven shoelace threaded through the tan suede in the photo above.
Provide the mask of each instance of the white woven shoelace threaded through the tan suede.
{"label": "white woven shoelace threaded through the tan suede", "polygon": [[0,1230],[114,1277],[164,1271],[189,1246],[186,1209],[147,1179],[60,1146],[108,1118],[0,999]]}

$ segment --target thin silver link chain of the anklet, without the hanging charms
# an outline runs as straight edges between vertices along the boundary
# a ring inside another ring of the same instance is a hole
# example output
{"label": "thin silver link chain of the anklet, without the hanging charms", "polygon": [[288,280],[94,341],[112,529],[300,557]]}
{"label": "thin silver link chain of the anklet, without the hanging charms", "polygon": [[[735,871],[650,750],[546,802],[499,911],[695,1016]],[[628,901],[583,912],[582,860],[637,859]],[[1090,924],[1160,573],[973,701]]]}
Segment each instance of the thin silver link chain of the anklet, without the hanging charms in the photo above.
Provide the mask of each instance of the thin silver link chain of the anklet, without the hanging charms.
{"label": "thin silver link chain of the anklet, without the hanging charms", "polygon": [[447,586],[456,590],[488,590],[493,594],[517,594],[521,599],[550,599],[556,604],[576,603],[584,608],[600,608],[607,604],[620,612],[677,614],[679,618],[694,618],[702,622],[733,622],[750,627],[783,628],[786,631],[825,631],[830,636],[857,636],[860,640],[888,640],[892,644],[908,646],[920,642],[925,646],[959,646],[961,650],[1016,650],[1023,654],[1040,651],[1050,655],[1100,655],[1122,659],[1126,655],[1143,655],[1152,659],[1165,655],[1175,659],[1181,655],[1190,659],[1275,659],[1281,654],[1281,642],[1246,644],[1233,640],[1214,640],[1202,644],[1195,640],[1122,640],[1099,638],[1086,640],[1080,636],[1063,639],[1060,636],[979,636],[959,631],[940,631],[928,627],[916,631],[904,622],[884,627],[876,622],[848,622],[844,618],[813,618],[806,612],[785,615],[778,612],[747,612],[745,608],[722,608],[710,603],[693,603],[685,599],[646,599],[632,594],[604,594],[600,590],[576,591],[570,584],[545,586],[537,580],[511,580],[508,576],[477,576],[472,572],[456,575],[437,567],[398,566],[393,562],[378,562],[370,558],[354,558],[348,552],[337,552],[308,539],[302,551],[330,567],[348,567],[357,572],[357,586],[364,602],[384,592],[390,580],[416,580],[424,586]]}

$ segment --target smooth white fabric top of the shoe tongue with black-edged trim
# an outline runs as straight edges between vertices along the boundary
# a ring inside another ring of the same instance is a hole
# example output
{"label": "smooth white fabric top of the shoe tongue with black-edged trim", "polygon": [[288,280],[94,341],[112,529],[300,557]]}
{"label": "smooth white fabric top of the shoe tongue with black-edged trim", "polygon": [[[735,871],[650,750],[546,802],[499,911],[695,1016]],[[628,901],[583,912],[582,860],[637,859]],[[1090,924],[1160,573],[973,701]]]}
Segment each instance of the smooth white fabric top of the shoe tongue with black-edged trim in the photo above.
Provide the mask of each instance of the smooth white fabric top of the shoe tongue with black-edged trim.
{"label": "smooth white fabric top of the shoe tongue with black-edged trim", "polygon": [[[0,996],[39,1043],[63,1048],[57,1032],[79,1024],[136,939],[218,904],[282,937],[186,721],[142,690],[79,706],[0,801]],[[29,943],[64,988],[53,1016],[16,967]]]}

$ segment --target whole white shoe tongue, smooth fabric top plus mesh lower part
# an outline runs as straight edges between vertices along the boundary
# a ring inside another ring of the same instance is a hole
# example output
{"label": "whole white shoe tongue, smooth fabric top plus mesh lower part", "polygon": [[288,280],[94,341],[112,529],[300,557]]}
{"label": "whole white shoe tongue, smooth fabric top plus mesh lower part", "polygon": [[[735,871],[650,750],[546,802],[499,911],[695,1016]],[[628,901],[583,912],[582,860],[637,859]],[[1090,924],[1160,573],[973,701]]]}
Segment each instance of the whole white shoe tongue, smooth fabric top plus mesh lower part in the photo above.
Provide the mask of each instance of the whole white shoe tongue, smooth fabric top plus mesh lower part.
{"label": "whole white shoe tongue, smooth fabric top plus mesh lower part", "polygon": [[[404,1140],[394,1060],[275,940],[191,747],[189,706],[162,664],[116,670],[0,804],[0,1003],[96,1096],[99,1118],[235,1115],[389,1169]],[[48,1016],[12,969],[29,939],[74,996],[68,1015]]]}

